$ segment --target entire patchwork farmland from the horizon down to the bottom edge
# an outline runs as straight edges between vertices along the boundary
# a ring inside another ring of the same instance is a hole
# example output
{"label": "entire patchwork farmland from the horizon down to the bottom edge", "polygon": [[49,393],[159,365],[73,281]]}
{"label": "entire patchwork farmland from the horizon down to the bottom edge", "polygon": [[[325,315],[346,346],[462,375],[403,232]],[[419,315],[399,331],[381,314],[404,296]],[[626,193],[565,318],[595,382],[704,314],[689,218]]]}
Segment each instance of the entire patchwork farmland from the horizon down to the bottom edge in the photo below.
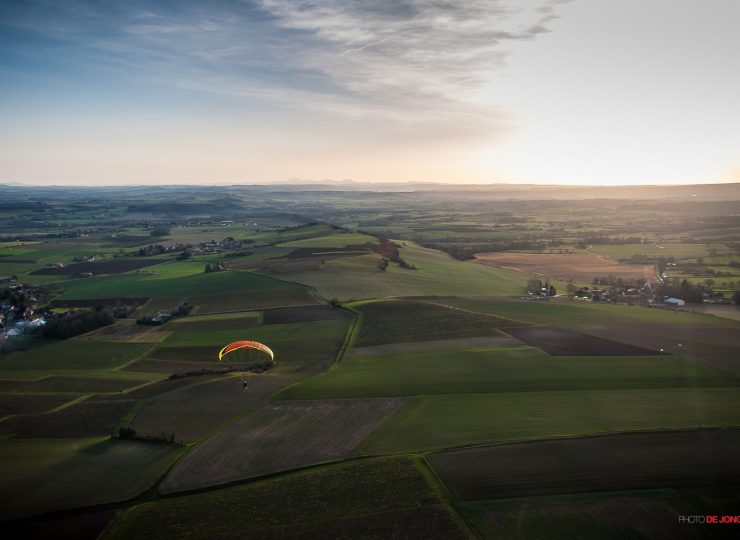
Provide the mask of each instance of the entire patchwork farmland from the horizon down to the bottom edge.
{"label": "entire patchwork farmland from the horizon down to the bottom edge", "polygon": [[[3,189],[13,537],[682,537],[677,514],[736,512],[724,191]],[[237,340],[275,363],[219,362]]]}

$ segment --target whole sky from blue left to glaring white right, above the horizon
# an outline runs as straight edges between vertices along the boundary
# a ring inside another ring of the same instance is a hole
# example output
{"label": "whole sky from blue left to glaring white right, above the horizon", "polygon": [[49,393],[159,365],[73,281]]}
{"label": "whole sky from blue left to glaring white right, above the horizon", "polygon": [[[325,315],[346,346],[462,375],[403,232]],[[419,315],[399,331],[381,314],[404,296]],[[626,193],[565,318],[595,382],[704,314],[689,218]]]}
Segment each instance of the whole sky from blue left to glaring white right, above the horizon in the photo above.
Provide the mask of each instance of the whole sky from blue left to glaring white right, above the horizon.
{"label": "whole sky from blue left to glaring white right, above the horizon", "polygon": [[740,182],[736,0],[2,0],[0,182]]}

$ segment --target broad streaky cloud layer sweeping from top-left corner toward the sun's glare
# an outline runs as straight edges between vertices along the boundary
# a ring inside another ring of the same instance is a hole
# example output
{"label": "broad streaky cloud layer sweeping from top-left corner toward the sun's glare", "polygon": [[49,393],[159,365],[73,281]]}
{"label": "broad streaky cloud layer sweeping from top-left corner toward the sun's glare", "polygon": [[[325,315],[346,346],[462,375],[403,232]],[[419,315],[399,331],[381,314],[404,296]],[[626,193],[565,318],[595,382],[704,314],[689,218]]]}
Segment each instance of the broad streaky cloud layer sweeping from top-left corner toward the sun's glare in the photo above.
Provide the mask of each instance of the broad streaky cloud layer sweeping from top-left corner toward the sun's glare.
{"label": "broad streaky cloud layer sweeping from top-left corner toward the sun's glare", "polygon": [[548,32],[563,1],[60,0],[5,18],[76,46],[81,62],[159,85],[472,132],[504,126],[476,92],[504,65],[507,42]]}

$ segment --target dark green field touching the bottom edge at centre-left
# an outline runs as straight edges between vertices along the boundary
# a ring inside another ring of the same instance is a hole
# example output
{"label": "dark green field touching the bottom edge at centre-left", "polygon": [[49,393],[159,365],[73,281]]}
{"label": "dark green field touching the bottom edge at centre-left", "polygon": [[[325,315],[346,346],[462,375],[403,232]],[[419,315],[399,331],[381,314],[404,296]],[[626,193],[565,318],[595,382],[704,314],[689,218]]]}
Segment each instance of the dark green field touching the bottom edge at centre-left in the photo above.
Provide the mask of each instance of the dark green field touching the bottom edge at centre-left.
{"label": "dark green field touching the bottom edge at centre-left", "polygon": [[407,457],[353,461],[125,511],[103,538],[471,538]]}

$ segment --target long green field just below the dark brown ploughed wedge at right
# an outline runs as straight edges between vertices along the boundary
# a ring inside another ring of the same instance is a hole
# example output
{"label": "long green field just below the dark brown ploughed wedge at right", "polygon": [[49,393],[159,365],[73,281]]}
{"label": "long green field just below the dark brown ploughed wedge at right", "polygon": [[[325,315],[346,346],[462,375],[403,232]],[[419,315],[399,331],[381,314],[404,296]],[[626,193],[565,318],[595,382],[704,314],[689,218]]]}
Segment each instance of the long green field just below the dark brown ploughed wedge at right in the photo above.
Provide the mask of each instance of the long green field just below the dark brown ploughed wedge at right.
{"label": "long green field just below the dark brown ploughed wedge at right", "polygon": [[550,356],[524,345],[350,356],[283,398],[548,390],[735,387],[740,379],[675,356]]}

